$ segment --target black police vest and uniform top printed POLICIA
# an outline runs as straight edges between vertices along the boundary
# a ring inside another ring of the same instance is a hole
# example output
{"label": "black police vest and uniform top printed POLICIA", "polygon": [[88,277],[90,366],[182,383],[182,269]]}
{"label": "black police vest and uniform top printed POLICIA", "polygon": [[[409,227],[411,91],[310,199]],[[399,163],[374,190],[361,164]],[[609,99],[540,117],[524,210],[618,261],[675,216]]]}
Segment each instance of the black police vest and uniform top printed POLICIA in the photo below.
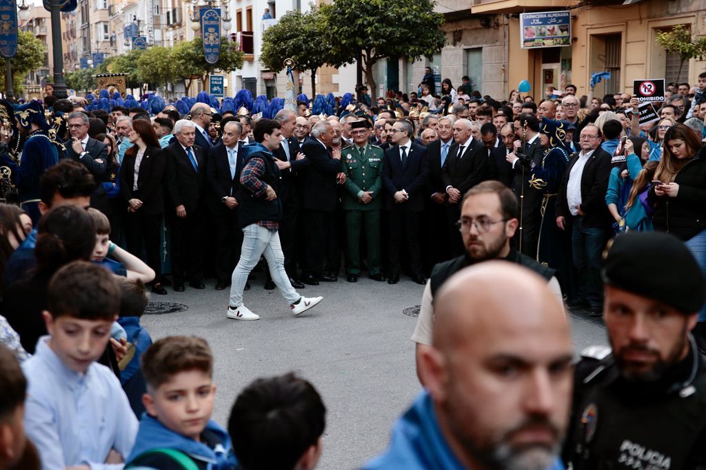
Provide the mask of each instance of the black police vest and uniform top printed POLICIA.
{"label": "black police vest and uniform top printed POLICIA", "polygon": [[612,355],[577,364],[565,461],[575,470],[706,468],[706,358],[694,351],[686,373],[649,392],[621,378]]}

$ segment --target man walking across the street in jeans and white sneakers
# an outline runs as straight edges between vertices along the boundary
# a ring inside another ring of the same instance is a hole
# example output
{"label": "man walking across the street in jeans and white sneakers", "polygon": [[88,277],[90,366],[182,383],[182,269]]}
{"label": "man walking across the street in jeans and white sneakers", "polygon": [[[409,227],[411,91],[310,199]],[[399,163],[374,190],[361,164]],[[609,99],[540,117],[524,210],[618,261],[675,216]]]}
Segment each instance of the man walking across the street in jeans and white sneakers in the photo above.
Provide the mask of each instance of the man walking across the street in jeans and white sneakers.
{"label": "man walking across the street in jeans and white sneakers", "polygon": [[243,147],[244,168],[240,184],[244,190],[238,217],[244,237],[240,261],[233,271],[227,317],[236,320],[260,319],[243,304],[243,289],[261,255],[268,262],[272,280],[297,316],[321,302],[323,297],[301,297],[289,283],[285,271],[285,255],[282,254],[278,233],[282,218],[282,204],[277,199],[280,170],[273,155],[273,150],[280,147],[282,140],[280,123],[272,119],[258,120],[253,135],[256,143]]}

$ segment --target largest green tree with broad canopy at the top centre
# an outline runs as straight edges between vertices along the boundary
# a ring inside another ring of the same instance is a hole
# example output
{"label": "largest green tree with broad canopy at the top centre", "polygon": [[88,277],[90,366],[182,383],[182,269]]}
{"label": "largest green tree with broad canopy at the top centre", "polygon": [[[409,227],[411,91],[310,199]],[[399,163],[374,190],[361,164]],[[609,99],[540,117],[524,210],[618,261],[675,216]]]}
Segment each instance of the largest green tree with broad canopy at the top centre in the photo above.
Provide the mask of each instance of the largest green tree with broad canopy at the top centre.
{"label": "largest green tree with broad canopy at the top centre", "polygon": [[326,32],[333,44],[333,66],[360,61],[373,100],[376,84],[373,65],[382,58],[417,60],[441,51],[446,35],[443,15],[433,0],[336,0],[322,5]]}

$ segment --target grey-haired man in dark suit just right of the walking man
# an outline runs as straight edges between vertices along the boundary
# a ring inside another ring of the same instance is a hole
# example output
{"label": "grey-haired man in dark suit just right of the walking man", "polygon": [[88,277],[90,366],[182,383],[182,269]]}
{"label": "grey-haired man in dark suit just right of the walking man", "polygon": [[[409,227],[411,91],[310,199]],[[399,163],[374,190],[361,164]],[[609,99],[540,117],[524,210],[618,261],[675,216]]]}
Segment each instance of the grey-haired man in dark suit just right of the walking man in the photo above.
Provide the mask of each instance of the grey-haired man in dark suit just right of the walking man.
{"label": "grey-haired man in dark suit just right of the walking man", "polygon": [[[289,276],[289,283],[295,289],[303,289],[304,284],[297,278],[297,221],[299,219],[299,207],[301,207],[301,194],[299,190],[299,175],[309,160],[299,151],[299,142],[294,137],[294,129],[297,125],[297,114],[288,109],[282,109],[275,116],[275,120],[282,126],[282,142],[280,147],[273,151],[275,163],[280,168],[280,192],[277,197],[282,202],[282,220],[280,221],[280,242],[282,252],[285,254],[285,271]],[[275,288],[272,279],[269,278],[268,287]]]}

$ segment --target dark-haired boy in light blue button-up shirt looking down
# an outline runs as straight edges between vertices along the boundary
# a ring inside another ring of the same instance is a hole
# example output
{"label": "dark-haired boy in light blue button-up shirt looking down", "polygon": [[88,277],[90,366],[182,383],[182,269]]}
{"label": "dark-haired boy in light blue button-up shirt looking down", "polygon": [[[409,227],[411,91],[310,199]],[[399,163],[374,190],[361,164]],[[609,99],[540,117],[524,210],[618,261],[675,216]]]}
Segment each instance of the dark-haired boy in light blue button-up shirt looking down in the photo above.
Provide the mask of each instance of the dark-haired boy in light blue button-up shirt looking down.
{"label": "dark-haired boy in light blue button-up shirt looking down", "polygon": [[23,363],[29,383],[25,428],[44,469],[119,469],[138,422],[114,373],[95,361],[105,351],[119,306],[118,279],[74,261],[49,283],[49,335]]}

